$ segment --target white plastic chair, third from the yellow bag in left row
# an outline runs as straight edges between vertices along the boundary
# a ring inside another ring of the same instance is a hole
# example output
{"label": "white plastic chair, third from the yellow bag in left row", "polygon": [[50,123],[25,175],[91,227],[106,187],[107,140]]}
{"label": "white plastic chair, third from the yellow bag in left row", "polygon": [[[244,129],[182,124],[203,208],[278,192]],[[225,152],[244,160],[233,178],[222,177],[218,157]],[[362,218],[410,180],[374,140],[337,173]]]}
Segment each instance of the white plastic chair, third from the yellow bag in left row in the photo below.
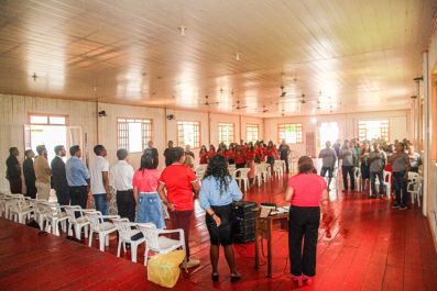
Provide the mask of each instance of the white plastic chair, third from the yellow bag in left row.
{"label": "white plastic chair, third from the yellow bag in left row", "polygon": [[105,251],[105,246],[109,246],[109,234],[117,232],[116,225],[105,220],[120,219],[120,215],[102,215],[100,211],[94,210],[86,210],[84,213],[90,224],[88,246],[90,247],[92,245],[92,234],[97,233],[99,235],[100,251]]}

